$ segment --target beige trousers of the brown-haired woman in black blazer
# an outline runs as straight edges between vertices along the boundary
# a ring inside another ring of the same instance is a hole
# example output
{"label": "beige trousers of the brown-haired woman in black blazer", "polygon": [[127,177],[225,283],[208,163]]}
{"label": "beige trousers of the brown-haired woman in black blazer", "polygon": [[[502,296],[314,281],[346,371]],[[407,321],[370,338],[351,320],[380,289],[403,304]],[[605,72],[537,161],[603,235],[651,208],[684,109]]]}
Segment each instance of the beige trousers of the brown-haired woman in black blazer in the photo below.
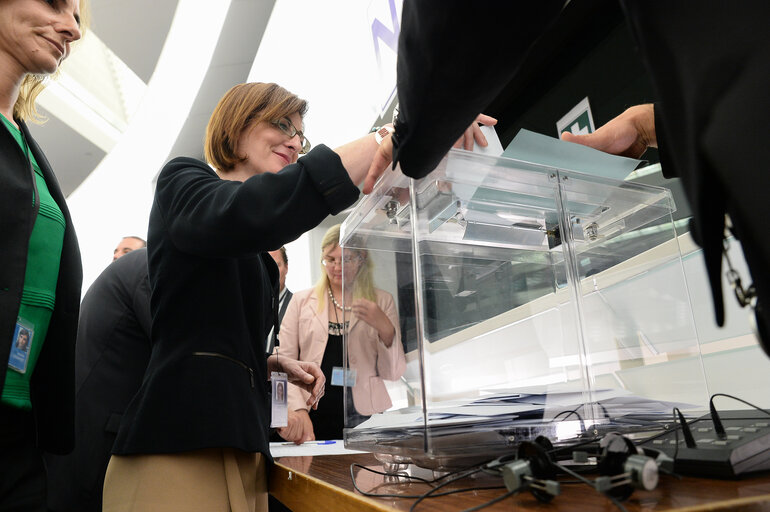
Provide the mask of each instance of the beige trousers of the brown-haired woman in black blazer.
{"label": "beige trousers of the brown-haired woman in black blazer", "polygon": [[157,455],[113,455],[103,512],[267,512],[260,453],[208,448]]}

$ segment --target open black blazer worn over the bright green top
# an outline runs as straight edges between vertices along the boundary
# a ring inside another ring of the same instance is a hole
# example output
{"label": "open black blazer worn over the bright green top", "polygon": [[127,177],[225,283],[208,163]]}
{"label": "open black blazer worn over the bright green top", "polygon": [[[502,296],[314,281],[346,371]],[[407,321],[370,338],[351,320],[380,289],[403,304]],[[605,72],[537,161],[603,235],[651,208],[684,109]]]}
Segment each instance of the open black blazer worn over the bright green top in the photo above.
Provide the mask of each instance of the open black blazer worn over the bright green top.
{"label": "open black blazer worn over the bright green top", "polygon": [[[74,441],[75,335],[83,281],[80,249],[51,165],[26,125],[18,120],[17,123],[67,223],[56,283],[56,304],[30,383],[40,447],[52,453],[67,453]],[[34,171],[5,127],[0,129],[0,169],[0,340],[5,340],[0,342],[0,361],[8,361],[24,288],[27,247],[39,204],[32,206]],[[0,391],[7,369],[7,364],[0,364]]]}

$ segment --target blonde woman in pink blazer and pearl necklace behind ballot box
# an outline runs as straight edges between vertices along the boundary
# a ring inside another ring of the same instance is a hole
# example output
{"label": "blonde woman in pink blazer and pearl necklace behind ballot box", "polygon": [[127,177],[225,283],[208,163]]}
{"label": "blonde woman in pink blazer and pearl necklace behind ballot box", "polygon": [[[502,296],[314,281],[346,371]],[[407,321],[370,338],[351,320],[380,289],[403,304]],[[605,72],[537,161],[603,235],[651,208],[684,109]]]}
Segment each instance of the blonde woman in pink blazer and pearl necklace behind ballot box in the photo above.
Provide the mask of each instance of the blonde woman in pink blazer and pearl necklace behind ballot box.
{"label": "blonde woman in pink blazer and pearl necklace behind ballot box", "polygon": [[[314,288],[294,294],[278,336],[279,357],[316,362],[326,375],[326,394],[318,410],[308,409],[306,391],[289,384],[288,425],[278,433],[297,444],[316,438],[341,439],[344,426],[353,427],[389,409],[392,404],[383,380],[398,380],[406,369],[393,297],[374,287],[366,251],[346,250],[343,273],[339,238],[339,224],[324,235],[321,278]],[[348,367],[355,370],[354,377],[353,372],[348,376],[352,393],[347,394],[347,425],[341,385],[344,332],[348,333]]]}

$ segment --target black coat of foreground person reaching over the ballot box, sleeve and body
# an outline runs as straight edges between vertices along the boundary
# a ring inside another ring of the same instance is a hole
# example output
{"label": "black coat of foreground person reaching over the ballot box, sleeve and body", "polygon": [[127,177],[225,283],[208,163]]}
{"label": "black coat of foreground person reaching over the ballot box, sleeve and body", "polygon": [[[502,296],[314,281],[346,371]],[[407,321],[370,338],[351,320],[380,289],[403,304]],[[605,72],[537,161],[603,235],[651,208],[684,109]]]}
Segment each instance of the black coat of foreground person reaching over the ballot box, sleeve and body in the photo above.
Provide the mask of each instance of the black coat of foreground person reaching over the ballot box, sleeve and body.
{"label": "black coat of foreground person reaching over the ballot box, sleeve and body", "polygon": [[[516,74],[563,1],[406,0],[398,49],[394,165],[420,178]],[[659,103],[661,163],[679,176],[723,321],[722,232],[730,213],[770,324],[770,2],[623,0]],[[483,30],[480,37],[479,30]],[[479,51],[499,48],[501,52]],[[748,284],[748,276],[744,285]],[[730,298],[730,300],[734,300]],[[770,339],[765,350],[770,354]]]}

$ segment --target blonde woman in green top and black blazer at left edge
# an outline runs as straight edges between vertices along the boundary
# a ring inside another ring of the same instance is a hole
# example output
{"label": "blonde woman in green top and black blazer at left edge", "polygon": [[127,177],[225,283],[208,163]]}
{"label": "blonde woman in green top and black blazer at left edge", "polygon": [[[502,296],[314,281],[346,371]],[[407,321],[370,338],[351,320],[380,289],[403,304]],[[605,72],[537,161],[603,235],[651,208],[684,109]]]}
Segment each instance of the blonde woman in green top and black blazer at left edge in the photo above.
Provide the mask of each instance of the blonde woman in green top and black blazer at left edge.
{"label": "blonde woman in green top and black blazer at left edge", "polygon": [[74,438],[80,252],[25,120],[80,39],[83,4],[0,2],[0,510],[45,511],[43,452]]}

